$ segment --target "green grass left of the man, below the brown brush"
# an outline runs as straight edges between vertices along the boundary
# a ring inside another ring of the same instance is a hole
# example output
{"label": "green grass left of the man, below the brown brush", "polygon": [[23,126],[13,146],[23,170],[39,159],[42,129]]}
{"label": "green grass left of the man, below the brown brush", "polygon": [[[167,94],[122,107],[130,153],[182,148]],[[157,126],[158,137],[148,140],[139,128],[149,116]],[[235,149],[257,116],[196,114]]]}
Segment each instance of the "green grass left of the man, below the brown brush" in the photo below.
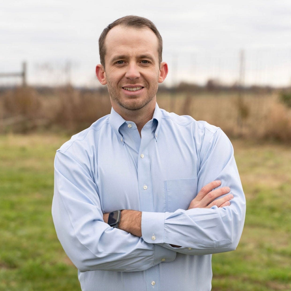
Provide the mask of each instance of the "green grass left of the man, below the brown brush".
{"label": "green grass left of the man, below the brown brush", "polygon": [[51,215],[53,161],[68,137],[0,137],[0,290],[80,290]]}

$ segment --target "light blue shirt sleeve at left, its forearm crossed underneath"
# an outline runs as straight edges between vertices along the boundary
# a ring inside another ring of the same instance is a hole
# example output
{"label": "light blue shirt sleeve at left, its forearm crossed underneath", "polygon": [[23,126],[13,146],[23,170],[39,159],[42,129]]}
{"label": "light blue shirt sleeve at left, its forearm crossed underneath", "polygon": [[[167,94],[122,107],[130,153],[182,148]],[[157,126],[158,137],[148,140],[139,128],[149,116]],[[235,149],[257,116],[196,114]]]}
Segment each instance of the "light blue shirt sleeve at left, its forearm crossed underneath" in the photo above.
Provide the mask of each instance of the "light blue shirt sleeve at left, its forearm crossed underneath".
{"label": "light blue shirt sleeve at left, its forearm crossed underneath", "polygon": [[103,221],[98,189],[88,168],[58,150],[52,216],[63,249],[80,272],[142,271],[176,252],[145,242]]}

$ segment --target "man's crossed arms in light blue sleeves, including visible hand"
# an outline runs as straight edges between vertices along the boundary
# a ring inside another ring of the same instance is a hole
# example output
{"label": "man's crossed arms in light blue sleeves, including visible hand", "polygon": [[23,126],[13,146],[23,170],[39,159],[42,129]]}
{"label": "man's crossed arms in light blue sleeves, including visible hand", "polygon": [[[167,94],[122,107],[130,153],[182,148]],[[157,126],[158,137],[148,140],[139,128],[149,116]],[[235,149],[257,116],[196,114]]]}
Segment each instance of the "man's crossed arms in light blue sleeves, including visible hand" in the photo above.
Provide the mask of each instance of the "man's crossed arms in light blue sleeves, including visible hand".
{"label": "man's crossed arms in light blue sleeves, including visible hand", "polygon": [[[177,252],[205,255],[234,250],[244,224],[245,198],[232,146],[226,142],[224,138],[219,142],[223,152],[208,149],[197,176],[201,190],[189,209],[166,213],[124,210],[121,229],[106,223],[97,185],[82,164],[85,154],[75,155],[73,147],[59,150],[52,215],[58,239],[79,271],[142,271],[161,259],[175,260]],[[214,189],[220,187],[216,180],[230,190]]]}

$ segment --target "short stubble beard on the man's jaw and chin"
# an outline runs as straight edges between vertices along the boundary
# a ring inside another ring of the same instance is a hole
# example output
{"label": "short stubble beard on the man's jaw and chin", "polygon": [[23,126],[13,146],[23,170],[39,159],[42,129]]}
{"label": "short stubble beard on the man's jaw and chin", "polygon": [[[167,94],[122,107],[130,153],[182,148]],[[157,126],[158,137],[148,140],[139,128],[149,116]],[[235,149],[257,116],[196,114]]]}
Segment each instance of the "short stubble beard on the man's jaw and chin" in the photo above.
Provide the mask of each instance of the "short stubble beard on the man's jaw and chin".
{"label": "short stubble beard on the man's jaw and chin", "polygon": [[135,97],[134,95],[132,95],[132,96],[128,96],[127,100],[123,100],[120,96],[121,95],[120,91],[118,91],[118,87],[114,88],[114,86],[111,86],[111,81],[107,79],[107,89],[108,89],[108,93],[110,95],[111,100],[127,110],[142,109],[148,103],[150,103],[153,100],[153,98],[155,98],[158,91],[158,84],[156,85],[150,84],[149,87],[152,89],[148,91],[148,94],[146,95],[146,97],[141,98],[141,97]]}

